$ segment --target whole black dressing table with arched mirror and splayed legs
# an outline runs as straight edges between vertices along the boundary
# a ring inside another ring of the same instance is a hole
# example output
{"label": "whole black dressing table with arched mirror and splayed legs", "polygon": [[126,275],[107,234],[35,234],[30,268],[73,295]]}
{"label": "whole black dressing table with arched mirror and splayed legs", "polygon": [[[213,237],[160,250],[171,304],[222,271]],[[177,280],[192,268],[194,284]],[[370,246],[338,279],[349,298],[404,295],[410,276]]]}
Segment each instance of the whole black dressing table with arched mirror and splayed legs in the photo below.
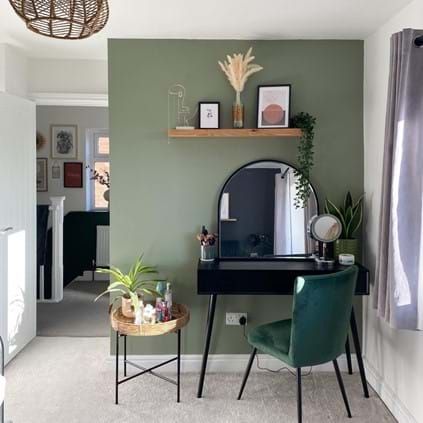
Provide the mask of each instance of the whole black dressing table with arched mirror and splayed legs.
{"label": "whole black dressing table with arched mirror and splayed legs", "polygon": [[[212,262],[199,261],[197,269],[197,293],[209,296],[198,398],[203,395],[219,295],[292,295],[297,276],[333,273],[345,268],[335,264],[322,269],[307,257],[315,247],[307,235],[307,223],[317,214],[318,201],[310,185],[308,206],[302,211],[294,207],[294,172],[291,165],[274,160],[249,163],[231,175],[221,191],[219,258]],[[291,196],[287,195],[290,191]],[[355,294],[368,295],[369,271],[357,266]],[[369,397],[354,309],[350,325],[364,396]],[[352,374],[348,339],[345,348],[348,371]]]}

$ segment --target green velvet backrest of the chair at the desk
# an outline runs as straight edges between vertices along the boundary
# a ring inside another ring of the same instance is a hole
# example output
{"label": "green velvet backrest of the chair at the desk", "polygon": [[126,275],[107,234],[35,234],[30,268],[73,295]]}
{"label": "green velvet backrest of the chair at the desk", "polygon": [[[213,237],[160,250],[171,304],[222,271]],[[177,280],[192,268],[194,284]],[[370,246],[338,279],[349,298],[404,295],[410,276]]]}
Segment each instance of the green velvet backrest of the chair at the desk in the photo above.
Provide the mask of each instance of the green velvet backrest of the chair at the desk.
{"label": "green velvet backrest of the chair at the desk", "polygon": [[289,357],[295,367],[332,361],[345,351],[358,269],[298,277]]}

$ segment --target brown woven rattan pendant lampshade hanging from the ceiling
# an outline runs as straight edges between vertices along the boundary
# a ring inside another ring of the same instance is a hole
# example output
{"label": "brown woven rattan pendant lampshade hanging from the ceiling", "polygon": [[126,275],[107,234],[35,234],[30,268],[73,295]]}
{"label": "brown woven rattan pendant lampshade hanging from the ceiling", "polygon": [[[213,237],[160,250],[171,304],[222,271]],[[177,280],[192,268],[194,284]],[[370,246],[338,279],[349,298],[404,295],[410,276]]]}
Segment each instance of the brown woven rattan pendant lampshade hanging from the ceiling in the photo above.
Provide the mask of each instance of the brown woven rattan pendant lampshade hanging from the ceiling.
{"label": "brown woven rattan pendant lampshade hanging from the ceiling", "polygon": [[51,38],[79,40],[101,31],[109,18],[107,0],[9,0],[26,26]]}

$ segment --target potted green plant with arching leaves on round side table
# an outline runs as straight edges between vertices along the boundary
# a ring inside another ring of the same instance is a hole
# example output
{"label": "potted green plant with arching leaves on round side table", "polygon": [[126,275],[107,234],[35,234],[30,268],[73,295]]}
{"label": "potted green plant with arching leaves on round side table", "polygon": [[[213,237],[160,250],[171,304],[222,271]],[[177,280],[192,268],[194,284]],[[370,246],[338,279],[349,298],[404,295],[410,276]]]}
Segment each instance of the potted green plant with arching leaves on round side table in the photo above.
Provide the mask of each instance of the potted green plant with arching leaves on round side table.
{"label": "potted green plant with arching leaves on round side table", "polygon": [[110,275],[114,281],[111,281],[107,290],[102,292],[94,301],[108,293],[117,294],[114,301],[120,299],[122,302],[122,314],[126,317],[135,316],[135,312],[140,306],[139,298],[142,295],[160,296],[155,290],[155,286],[157,282],[165,281],[165,279],[155,277],[158,274],[157,268],[144,264],[143,256],[136,260],[127,274],[114,266],[110,266],[110,269],[97,268],[96,271]]}

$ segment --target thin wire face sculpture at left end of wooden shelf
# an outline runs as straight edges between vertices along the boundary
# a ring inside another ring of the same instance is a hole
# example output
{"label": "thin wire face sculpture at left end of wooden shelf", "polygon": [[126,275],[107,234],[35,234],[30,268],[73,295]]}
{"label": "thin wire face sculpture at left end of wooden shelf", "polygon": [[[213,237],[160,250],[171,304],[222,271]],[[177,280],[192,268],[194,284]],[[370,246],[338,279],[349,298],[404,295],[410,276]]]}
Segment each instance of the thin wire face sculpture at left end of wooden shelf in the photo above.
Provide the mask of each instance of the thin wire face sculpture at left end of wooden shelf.
{"label": "thin wire face sculpture at left end of wooden shelf", "polygon": [[174,84],[167,90],[168,128],[195,129],[190,121],[194,119],[198,109],[191,114],[185,104],[186,90],[182,84]]}

